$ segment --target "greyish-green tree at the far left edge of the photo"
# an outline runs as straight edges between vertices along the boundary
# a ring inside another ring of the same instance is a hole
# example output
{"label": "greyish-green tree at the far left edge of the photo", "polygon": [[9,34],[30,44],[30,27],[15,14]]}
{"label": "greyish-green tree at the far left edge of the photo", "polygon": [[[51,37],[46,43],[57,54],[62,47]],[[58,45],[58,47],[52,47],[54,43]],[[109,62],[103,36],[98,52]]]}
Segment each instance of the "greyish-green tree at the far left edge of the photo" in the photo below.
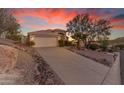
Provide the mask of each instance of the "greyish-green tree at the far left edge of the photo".
{"label": "greyish-green tree at the far left edge of the photo", "polygon": [[17,33],[20,25],[17,20],[12,16],[12,14],[7,9],[0,9],[0,35],[3,32]]}

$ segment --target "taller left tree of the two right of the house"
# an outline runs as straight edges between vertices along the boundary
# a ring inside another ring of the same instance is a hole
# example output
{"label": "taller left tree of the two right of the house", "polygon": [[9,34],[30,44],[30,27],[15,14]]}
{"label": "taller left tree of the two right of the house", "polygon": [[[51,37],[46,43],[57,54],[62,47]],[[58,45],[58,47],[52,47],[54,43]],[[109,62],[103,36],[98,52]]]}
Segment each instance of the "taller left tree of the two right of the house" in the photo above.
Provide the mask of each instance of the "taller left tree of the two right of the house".
{"label": "taller left tree of the two right of the house", "polygon": [[[66,24],[67,31],[72,33],[72,37],[77,40],[77,48],[80,49],[80,40],[86,43],[89,31],[89,15],[77,15]],[[85,33],[86,32],[86,33]]]}

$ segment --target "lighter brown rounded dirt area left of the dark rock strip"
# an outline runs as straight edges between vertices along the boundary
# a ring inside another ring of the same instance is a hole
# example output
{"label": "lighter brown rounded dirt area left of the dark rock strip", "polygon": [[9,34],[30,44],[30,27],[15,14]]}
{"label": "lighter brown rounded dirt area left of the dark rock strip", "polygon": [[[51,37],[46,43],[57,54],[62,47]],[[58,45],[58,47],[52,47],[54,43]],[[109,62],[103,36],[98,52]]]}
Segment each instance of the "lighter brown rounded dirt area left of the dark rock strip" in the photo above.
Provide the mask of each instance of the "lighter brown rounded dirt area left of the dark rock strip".
{"label": "lighter brown rounded dirt area left of the dark rock strip", "polygon": [[0,84],[37,84],[34,81],[36,63],[24,51],[0,46]]}

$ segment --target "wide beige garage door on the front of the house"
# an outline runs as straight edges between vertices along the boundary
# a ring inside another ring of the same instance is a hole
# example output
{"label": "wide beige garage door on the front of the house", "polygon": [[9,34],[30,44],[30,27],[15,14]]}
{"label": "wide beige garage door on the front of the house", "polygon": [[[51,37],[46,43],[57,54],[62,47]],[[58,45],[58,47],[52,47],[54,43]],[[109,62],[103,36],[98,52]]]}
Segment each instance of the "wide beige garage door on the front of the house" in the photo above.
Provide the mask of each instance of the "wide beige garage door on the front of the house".
{"label": "wide beige garage door on the front of the house", "polygon": [[57,38],[34,38],[34,47],[56,47],[58,45]]}

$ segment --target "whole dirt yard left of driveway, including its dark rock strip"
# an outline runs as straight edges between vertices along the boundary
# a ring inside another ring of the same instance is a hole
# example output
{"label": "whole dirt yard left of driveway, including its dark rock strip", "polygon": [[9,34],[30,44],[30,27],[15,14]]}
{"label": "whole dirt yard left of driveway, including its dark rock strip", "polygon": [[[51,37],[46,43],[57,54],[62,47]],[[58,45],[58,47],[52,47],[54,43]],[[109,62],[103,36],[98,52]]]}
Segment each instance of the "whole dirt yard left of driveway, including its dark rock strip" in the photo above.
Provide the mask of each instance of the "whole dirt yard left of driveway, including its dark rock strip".
{"label": "whole dirt yard left of driveway, including its dark rock strip", "polygon": [[0,47],[0,84],[4,85],[60,85],[64,82],[29,47]]}

